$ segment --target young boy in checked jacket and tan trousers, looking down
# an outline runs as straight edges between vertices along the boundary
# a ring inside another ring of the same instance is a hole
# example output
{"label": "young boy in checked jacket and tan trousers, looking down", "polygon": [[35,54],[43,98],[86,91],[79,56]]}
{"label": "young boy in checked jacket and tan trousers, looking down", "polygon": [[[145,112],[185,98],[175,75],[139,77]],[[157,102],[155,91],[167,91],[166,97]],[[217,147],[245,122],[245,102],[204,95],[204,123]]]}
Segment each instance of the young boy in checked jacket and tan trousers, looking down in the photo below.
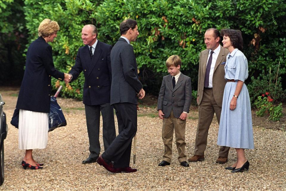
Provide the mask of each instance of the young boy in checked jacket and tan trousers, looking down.
{"label": "young boy in checked jacket and tan trousers, looking down", "polygon": [[178,161],[181,166],[189,167],[185,155],[185,129],[192,99],[192,85],[191,78],[180,72],[181,64],[181,59],[177,55],[172,55],[167,59],[166,66],[170,75],[163,77],[158,97],[158,115],[160,119],[163,119],[164,155],[163,161],[158,165],[161,167],[170,165],[174,130]]}

